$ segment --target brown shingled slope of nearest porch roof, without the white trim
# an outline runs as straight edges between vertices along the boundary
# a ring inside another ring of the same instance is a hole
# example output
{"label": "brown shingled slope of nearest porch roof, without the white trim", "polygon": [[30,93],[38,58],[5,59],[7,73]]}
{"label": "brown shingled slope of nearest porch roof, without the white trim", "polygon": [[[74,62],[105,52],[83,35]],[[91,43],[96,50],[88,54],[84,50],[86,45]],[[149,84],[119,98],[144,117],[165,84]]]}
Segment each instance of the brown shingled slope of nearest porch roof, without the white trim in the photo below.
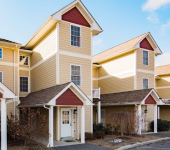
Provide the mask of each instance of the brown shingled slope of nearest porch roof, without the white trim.
{"label": "brown shingled slope of nearest porch roof, without the white trim", "polygon": [[26,97],[20,98],[21,106],[38,106],[47,104],[51,99],[53,99],[57,94],[59,94],[67,85],[71,82],[56,85],[53,87],[49,87],[46,89],[42,89],[40,91],[32,92],[28,94]]}

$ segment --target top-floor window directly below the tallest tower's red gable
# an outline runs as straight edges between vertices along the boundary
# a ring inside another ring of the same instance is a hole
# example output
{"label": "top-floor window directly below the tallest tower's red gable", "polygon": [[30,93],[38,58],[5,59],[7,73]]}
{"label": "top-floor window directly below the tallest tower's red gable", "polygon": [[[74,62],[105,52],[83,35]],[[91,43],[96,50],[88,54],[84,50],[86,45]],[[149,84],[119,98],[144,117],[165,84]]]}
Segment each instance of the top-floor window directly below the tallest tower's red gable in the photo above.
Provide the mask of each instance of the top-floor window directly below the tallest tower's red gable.
{"label": "top-floor window directly below the tallest tower's red gable", "polygon": [[71,45],[80,47],[80,27],[71,25]]}

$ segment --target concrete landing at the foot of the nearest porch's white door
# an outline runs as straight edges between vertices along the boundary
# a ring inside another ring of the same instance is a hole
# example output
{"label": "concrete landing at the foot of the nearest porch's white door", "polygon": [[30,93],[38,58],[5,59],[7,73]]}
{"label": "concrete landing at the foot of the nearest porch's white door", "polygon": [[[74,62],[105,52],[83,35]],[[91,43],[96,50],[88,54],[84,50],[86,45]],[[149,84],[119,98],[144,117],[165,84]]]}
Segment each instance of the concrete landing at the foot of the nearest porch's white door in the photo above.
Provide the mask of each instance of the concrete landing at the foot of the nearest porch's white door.
{"label": "concrete landing at the foot of the nearest porch's white door", "polygon": [[[46,138],[46,137],[34,137],[34,140],[38,143],[45,145],[45,146],[48,146],[48,144],[49,144],[49,138]],[[76,145],[76,144],[82,144],[82,143],[80,141],[73,141],[73,142],[54,141],[53,147],[69,146],[69,145]]]}

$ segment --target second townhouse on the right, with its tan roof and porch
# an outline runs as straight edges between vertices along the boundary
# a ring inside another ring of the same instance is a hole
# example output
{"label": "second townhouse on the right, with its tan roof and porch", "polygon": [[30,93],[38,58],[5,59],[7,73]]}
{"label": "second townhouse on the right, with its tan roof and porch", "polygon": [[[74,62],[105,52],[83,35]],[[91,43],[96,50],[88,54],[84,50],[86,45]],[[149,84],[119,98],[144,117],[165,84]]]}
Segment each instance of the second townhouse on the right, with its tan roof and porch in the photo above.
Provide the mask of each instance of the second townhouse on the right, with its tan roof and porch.
{"label": "second townhouse on the right, with its tan roof and porch", "polygon": [[149,130],[163,104],[154,89],[155,56],[161,53],[148,32],[93,56],[93,88],[101,90],[93,122],[112,123],[109,114],[128,108],[141,114],[138,133]]}

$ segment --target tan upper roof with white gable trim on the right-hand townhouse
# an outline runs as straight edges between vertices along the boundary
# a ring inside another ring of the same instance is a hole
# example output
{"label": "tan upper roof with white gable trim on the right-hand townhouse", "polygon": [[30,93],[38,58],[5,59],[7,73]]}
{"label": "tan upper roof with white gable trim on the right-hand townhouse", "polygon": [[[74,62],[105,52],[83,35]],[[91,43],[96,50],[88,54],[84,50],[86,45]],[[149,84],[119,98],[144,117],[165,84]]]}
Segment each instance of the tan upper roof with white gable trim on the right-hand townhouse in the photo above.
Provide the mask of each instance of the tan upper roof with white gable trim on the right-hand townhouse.
{"label": "tan upper roof with white gable trim on the right-hand townhouse", "polygon": [[154,41],[153,37],[151,36],[150,32],[144,33],[136,38],[133,38],[127,42],[124,42],[120,45],[117,45],[115,47],[112,47],[111,49],[108,49],[106,51],[103,51],[97,55],[93,56],[93,63],[100,63],[102,61],[106,61],[107,59],[110,59],[118,54],[123,54],[125,52],[128,52],[130,50],[134,50],[136,48],[139,48],[140,42],[146,38],[149,37],[148,40],[152,40],[152,43],[154,44],[155,48],[155,54],[161,54],[161,50],[159,49],[158,45]]}

